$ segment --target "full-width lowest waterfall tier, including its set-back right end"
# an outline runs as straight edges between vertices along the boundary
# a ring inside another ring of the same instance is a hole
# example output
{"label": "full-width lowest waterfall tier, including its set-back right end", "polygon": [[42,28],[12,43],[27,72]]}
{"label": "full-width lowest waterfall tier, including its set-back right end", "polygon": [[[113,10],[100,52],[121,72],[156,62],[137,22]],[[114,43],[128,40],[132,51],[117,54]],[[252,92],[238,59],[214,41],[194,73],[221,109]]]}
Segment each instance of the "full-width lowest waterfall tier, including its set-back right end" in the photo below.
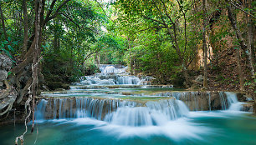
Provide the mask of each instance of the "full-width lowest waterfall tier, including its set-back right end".
{"label": "full-width lowest waterfall tier, including its set-back right end", "polygon": [[[110,124],[138,127],[158,126],[180,117],[187,117],[189,109],[197,111],[202,103],[208,105],[205,108],[210,111],[216,107],[215,102],[218,100],[220,109],[229,108],[229,110],[239,111],[241,102],[238,102],[235,93],[218,92],[218,97],[214,94],[211,92],[200,94],[198,92],[166,92],[161,95],[169,95],[169,97],[154,101],[98,97],[50,97],[48,100],[42,99],[38,102],[36,118],[93,117],[110,122]],[[202,98],[205,101],[201,100]],[[191,109],[191,107],[195,108]]]}

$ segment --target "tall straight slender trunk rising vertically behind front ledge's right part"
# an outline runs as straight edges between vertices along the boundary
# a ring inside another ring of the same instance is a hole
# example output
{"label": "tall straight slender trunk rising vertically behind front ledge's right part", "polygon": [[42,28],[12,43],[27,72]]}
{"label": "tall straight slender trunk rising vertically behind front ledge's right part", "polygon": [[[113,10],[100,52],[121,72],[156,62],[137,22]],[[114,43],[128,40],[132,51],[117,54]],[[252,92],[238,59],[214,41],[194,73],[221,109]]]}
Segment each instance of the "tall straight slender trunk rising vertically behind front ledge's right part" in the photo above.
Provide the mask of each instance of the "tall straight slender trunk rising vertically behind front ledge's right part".
{"label": "tall straight slender trunk rising vertically behind front ledge's right part", "polygon": [[207,40],[206,40],[206,27],[207,27],[207,18],[206,18],[206,0],[202,0],[203,8],[203,26],[202,26],[202,47],[203,47],[203,87],[208,87],[207,82]]}

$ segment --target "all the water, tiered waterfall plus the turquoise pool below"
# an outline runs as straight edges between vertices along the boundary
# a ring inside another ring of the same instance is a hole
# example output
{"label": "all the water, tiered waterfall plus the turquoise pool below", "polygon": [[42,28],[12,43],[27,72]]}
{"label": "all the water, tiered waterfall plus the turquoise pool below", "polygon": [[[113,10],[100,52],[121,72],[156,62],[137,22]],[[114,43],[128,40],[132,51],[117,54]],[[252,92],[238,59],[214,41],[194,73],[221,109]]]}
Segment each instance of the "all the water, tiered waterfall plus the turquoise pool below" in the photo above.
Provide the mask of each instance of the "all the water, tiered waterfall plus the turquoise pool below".
{"label": "all the water, tiered waterfall plus the turquoise pool below", "polygon": [[[125,69],[101,65],[102,73],[68,91],[42,93],[34,133],[25,135],[25,144],[256,143],[256,118],[240,111],[236,93],[153,86],[152,77],[140,79]],[[1,127],[0,144],[13,144],[23,131],[20,123]]]}

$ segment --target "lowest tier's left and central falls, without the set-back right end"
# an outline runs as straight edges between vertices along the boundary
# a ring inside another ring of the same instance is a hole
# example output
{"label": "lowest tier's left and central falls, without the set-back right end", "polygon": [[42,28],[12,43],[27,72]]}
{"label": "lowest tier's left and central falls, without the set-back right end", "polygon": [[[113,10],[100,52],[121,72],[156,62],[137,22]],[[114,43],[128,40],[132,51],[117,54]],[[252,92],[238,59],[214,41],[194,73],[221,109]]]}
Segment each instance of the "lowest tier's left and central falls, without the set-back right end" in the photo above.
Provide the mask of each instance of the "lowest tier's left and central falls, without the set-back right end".
{"label": "lowest tier's left and central falls, without the set-back right end", "polygon": [[[54,109],[53,109],[54,108]],[[38,103],[38,118],[94,117],[125,126],[159,125],[186,117],[187,106],[180,100],[169,98],[158,101],[135,102],[94,97],[50,98]]]}

